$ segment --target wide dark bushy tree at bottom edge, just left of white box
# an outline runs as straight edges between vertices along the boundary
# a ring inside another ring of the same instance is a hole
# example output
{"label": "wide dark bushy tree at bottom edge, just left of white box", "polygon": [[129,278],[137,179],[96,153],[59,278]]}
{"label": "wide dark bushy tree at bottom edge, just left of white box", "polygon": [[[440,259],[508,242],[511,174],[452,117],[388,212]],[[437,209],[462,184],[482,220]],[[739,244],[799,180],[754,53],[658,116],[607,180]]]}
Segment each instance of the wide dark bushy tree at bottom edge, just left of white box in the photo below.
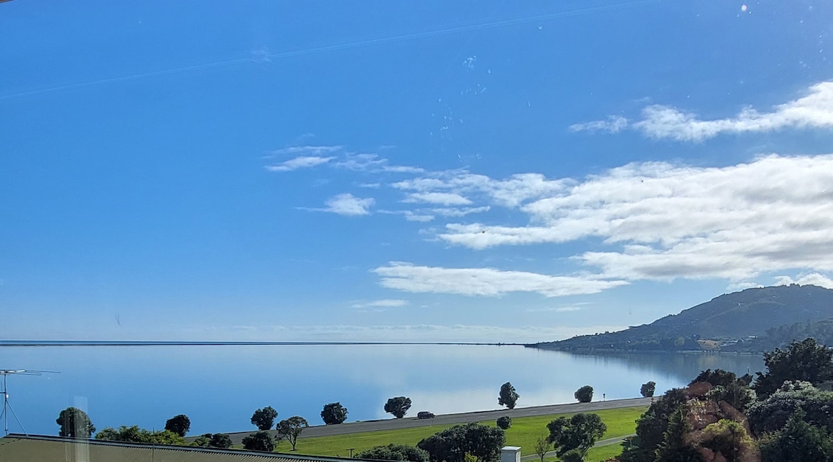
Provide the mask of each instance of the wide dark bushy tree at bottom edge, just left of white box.
{"label": "wide dark bushy tree at bottom edge, just left of white box", "polygon": [[506,443],[503,430],[476,423],[455,425],[421,440],[416,447],[428,451],[431,462],[464,462],[466,453],[481,462],[500,459]]}

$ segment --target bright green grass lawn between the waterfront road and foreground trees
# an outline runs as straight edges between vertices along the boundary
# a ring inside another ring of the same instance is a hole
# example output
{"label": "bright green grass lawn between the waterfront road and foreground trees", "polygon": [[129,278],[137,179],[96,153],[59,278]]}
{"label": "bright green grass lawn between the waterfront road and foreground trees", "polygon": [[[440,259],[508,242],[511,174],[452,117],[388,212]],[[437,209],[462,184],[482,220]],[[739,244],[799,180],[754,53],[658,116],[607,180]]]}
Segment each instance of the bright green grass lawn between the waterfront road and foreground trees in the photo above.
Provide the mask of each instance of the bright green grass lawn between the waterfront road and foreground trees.
{"label": "bright green grass lawn between the waterfront road and foreground trees", "polygon": [[[600,410],[597,411],[601,420],[607,425],[607,431],[602,439],[616,436],[630,435],[636,430],[636,419],[647,410],[646,406]],[[537,417],[519,417],[512,420],[512,426],[506,430],[506,445],[521,446],[521,455],[534,454],[533,445],[538,436],[546,435],[546,424],[561,415],[541,415]],[[495,426],[494,420],[482,421],[481,424]],[[322,436],[319,438],[302,438],[298,440],[297,453],[308,455],[350,455],[348,448],[354,448],[353,454],[367,450],[373,446],[388,445],[416,445],[420,440],[445,430],[453,425],[430,425],[413,429],[372,431],[354,433],[352,435]],[[289,443],[283,441],[278,447],[279,452],[288,452]],[[619,445],[596,448],[588,453],[588,461],[603,460],[606,454],[616,455],[621,450]],[[612,451],[612,452],[611,452]]]}

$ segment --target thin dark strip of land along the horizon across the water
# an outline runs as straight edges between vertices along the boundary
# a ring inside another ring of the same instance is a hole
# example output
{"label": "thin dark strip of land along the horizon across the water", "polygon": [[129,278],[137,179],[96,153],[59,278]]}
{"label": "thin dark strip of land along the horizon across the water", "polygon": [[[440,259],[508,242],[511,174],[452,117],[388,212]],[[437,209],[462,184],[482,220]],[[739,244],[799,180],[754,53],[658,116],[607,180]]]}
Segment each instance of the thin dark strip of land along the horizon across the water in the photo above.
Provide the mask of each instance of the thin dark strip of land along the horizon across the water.
{"label": "thin dark strip of land along the horizon across the water", "polygon": [[281,345],[491,345],[524,346],[494,342],[407,341],[224,341],[224,340],[0,340],[0,346],[281,346]]}

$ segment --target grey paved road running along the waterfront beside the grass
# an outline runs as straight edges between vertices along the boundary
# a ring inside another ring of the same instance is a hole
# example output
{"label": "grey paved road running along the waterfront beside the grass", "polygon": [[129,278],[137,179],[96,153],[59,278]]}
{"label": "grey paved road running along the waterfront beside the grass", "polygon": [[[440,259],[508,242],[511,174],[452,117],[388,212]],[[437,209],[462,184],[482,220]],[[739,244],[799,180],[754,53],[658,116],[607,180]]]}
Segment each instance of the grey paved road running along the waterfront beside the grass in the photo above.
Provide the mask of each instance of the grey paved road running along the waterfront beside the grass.
{"label": "grey paved road running along the waterfront beside the grass", "polygon": [[[607,400],[593,401],[591,403],[571,403],[568,405],[546,405],[523,407],[504,410],[481,410],[477,412],[462,412],[459,414],[437,415],[433,419],[416,419],[406,417],[403,419],[365,420],[363,422],[350,422],[341,425],[317,425],[310,427],[301,435],[301,438],[313,438],[316,436],[348,435],[351,433],[363,433],[366,431],[410,429],[414,427],[425,427],[430,425],[453,425],[478,422],[481,420],[496,420],[501,415],[508,415],[511,418],[531,417],[535,415],[564,414],[568,412],[590,412],[594,410],[617,409],[623,407],[646,406],[651,404],[651,398],[631,398],[629,400]],[[232,444],[239,445],[243,438],[257,430],[231,433]],[[272,436],[275,431],[272,430]]]}

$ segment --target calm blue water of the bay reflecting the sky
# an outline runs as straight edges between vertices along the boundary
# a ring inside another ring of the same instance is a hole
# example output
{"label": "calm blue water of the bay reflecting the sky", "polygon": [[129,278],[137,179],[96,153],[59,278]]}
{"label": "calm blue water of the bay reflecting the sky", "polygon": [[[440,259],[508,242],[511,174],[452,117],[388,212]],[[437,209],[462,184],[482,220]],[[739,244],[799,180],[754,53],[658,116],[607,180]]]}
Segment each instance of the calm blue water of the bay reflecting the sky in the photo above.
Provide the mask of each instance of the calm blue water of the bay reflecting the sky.
{"label": "calm blue water of the bay reflecting the sky", "polygon": [[0,368],[62,372],[9,383],[26,430],[44,435],[57,433],[60,410],[79,403],[87,403],[99,429],[158,429],[186,414],[198,434],[252,430],[252,411],[264,405],[279,418],[302,415],[317,425],[322,405],[332,401],[347,406],[351,421],[387,418],[382,405],[397,395],[412,398],[411,414],[496,409],[506,381],[520,393],[519,406],[572,402],[581,385],[612,400],[639,395],[647,380],[661,392],[700,370],[744,374],[761,370],[762,362],[750,355],[572,355],[488,345],[0,347]]}

